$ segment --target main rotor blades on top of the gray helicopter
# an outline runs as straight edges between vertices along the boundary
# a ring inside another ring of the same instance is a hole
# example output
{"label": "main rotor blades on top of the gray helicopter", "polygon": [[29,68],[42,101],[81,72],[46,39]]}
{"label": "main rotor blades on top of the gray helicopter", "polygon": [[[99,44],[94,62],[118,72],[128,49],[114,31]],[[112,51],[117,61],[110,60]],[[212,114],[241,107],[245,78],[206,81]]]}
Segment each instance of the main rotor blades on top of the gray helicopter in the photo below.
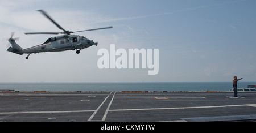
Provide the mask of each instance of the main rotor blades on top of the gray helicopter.
{"label": "main rotor blades on top of the gray helicopter", "polygon": [[26,35],[31,35],[31,34],[67,34],[67,35],[70,35],[71,33],[76,33],[76,32],[85,32],[85,31],[96,31],[96,30],[100,30],[100,29],[109,29],[109,28],[113,28],[112,26],[111,27],[104,27],[104,28],[96,28],[96,29],[86,29],[86,30],[82,30],[82,31],[67,31],[65,30],[64,28],[62,28],[58,23],[55,22],[55,20],[53,20],[51,18],[51,16],[49,16],[47,14],[46,11],[44,10],[38,10],[39,12],[41,12],[46,18],[48,18],[53,24],[56,25],[56,27],[58,27],[59,29],[63,30],[63,32],[26,32],[24,34]]}

